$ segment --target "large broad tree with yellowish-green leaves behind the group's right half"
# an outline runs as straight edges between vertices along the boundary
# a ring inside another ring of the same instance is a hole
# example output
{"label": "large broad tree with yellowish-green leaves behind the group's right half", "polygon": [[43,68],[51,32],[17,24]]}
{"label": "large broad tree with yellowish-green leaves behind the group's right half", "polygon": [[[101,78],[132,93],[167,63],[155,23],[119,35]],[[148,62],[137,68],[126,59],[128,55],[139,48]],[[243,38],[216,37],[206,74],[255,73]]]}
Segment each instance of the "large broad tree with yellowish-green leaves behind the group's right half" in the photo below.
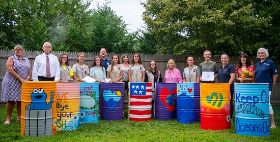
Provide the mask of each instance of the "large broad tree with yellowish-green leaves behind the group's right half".
{"label": "large broad tree with yellowish-green leaves behind the group's right half", "polygon": [[142,5],[161,53],[202,55],[208,49],[235,56],[266,44],[259,39],[270,19],[254,17],[249,0],[148,0]]}

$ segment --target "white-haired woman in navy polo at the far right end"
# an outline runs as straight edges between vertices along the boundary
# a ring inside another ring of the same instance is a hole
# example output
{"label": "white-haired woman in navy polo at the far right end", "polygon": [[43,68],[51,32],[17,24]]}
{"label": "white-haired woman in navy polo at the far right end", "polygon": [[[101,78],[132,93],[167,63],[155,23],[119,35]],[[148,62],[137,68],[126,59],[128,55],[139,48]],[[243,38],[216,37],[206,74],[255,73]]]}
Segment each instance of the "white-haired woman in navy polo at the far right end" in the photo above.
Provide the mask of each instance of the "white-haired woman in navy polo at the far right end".
{"label": "white-haired woman in navy polo at the far right end", "polygon": [[277,69],[274,62],[268,59],[268,51],[265,48],[260,48],[257,53],[257,58],[260,58],[260,61],[256,64],[256,82],[257,83],[269,83],[269,117],[270,117],[270,128],[276,128],[274,123],[274,113],[272,106],[270,104],[270,95],[271,91],[273,92],[274,85],[277,78]]}

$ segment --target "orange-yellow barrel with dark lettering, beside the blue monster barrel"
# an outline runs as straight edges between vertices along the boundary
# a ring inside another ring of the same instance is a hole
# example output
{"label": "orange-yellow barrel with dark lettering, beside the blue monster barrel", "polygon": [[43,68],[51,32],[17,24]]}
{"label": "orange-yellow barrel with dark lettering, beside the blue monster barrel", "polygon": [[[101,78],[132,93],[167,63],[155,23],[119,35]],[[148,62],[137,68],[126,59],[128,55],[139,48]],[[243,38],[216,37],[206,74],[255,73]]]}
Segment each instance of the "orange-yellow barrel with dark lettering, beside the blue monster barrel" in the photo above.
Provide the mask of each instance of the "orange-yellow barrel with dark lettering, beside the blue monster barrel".
{"label": "orange-yellow barrel with dark lettering, beside the blue monster barrel", "polygon": [[80,83],[57,82],[57,131],[79,127]]}

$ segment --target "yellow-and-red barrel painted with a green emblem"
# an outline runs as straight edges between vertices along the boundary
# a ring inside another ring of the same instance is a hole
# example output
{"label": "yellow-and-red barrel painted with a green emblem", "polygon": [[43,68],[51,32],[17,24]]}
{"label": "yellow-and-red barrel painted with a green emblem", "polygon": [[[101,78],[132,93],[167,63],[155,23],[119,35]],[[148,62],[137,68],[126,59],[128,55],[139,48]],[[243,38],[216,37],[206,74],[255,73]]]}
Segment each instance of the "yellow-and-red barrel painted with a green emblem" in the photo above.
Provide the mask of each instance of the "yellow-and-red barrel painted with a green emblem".
{"label": "yellow-and-red barrel painted with a green emblem", "polygon": [[201,128],[223,130],[231,128],[230,84],[201,83]]}

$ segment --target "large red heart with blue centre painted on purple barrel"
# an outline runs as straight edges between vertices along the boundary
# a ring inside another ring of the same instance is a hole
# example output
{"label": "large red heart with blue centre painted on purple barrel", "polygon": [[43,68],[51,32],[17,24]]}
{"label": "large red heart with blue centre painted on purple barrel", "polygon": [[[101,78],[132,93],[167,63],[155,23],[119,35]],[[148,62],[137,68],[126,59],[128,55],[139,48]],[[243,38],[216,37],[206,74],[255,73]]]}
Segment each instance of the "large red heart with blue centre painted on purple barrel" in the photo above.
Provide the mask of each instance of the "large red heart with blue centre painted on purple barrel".
{"label": "large red heart with blue centre painted on purple barrel", "polygon": [[172,113],[175,108],[170,108],[170,106],[175,107],[177,103],[176,88],[174,88],[171,92],[167,88],[162,88],[159,96],[166,108]]}

